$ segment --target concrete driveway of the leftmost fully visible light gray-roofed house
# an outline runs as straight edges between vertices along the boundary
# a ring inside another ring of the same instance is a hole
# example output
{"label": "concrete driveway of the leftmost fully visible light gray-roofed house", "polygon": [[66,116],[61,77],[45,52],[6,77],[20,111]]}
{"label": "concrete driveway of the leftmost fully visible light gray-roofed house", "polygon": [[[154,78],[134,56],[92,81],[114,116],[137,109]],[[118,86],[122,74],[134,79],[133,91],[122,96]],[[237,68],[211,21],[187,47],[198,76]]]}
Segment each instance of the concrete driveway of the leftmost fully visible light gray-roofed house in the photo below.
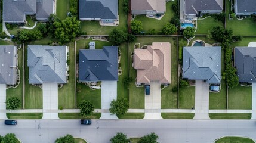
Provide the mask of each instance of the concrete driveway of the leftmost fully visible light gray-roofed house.
{"label": "concrete driveway of the leftmost fully visible light gray-roofed house", "polygon": [[58,118],[58,84],[43,83],[43,117],[42,119]]}

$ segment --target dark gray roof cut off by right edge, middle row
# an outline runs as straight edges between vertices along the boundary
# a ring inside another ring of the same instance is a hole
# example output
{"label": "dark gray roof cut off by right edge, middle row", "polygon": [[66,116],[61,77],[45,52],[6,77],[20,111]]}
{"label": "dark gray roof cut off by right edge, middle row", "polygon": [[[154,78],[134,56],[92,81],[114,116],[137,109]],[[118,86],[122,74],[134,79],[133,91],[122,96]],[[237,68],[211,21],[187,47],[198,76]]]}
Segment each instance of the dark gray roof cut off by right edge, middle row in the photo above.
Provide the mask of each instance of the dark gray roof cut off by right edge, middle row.
{"label": "dark gray roof cut off by right edge, middle row", "polygon": [[256,82],[256,47],[236,47],[235,67],[239,82]]}

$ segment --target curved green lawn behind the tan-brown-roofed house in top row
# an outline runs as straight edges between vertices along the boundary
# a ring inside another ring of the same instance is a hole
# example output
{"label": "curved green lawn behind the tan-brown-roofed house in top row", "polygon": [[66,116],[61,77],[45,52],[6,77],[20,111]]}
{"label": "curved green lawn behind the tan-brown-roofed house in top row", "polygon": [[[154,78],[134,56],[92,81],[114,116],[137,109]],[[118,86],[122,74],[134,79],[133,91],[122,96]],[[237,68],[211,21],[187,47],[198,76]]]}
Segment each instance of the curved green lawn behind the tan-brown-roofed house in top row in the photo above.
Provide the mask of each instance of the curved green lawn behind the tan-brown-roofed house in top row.
{"label": "curved green lawn behind the tan-brown-roofed house in top row", "polygon": [[172,11],[171,8],[172,4],[174,4],[174,1],[167,2],[166,13],[161,20],[147,18],[146,15],[137,15],[135,20],[140,20],[142,22],[144,32],[149,32],[150,29],[155,29],[156,32],[161,32],[162,27],[164,27],[166,23],[169,23],[171,18],[174,17],[174,11]]}

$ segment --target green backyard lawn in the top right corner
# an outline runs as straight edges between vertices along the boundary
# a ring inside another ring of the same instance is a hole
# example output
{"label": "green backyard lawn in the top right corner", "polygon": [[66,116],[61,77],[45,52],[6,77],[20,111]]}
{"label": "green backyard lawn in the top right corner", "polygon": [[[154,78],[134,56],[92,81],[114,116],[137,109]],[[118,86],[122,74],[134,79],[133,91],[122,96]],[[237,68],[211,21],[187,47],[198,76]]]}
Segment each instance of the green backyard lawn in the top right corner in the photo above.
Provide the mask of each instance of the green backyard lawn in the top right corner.
{"label": "green backyard lawn in the top right corner", "polygon": [[245,18],[243,20],[233,18],[233,20],[229,20],[230,5],[230,1],[227,1],[227,28],[232,29],[234,35],[256,35],[256,22],[252,18]]}

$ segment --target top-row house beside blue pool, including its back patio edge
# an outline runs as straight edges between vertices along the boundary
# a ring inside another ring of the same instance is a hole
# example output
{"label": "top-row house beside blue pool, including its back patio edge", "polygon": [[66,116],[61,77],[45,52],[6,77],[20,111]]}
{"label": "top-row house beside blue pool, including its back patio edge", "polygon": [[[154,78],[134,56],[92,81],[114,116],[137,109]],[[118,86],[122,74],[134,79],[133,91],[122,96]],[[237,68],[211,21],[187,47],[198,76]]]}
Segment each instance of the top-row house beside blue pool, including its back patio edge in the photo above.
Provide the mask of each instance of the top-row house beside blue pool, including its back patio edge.
{"label": "top-row house beside blue pool, including its back patio edge", "polygon": [[223,11],[223,0],[181,0],[184,17],[193,18],[201,14],[218,14]]}

